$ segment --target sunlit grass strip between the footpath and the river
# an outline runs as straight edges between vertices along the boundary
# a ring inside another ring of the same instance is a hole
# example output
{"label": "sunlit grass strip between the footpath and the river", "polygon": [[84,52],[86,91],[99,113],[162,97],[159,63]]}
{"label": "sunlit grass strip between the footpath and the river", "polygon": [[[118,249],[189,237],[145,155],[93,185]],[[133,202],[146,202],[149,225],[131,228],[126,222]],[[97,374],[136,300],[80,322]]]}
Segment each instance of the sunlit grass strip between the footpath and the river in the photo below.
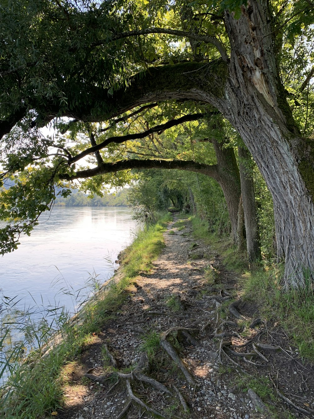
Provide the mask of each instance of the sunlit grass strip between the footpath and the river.
{"label": "sunlit grass strip between the footpath and the river", "polygon": [[[166,215],[155,225],[151,225],[139,232],[134,242],[124,251],[122,260],[122,275],[118,283],[113,284],[107,292],[100,295],[98,300],[87,303],[84,307],[82,324],[69,326],[68,318],[60,325],[63,336],[62,342],[41,357],[40,351],[32,354],[31,362],[16,368],[8,382],[0,389],[0,416],[5,419],[30,419],[56,414],[56,409],[62,406],[62,367],[71,361],[97,333],[106,321],[113,317],[124,303],[124,290],[141,271],[149,271],[152,261],[157,259],[164,240],[162,233],[171,216]],[[46,333],[47,344],[52,333]]]}

